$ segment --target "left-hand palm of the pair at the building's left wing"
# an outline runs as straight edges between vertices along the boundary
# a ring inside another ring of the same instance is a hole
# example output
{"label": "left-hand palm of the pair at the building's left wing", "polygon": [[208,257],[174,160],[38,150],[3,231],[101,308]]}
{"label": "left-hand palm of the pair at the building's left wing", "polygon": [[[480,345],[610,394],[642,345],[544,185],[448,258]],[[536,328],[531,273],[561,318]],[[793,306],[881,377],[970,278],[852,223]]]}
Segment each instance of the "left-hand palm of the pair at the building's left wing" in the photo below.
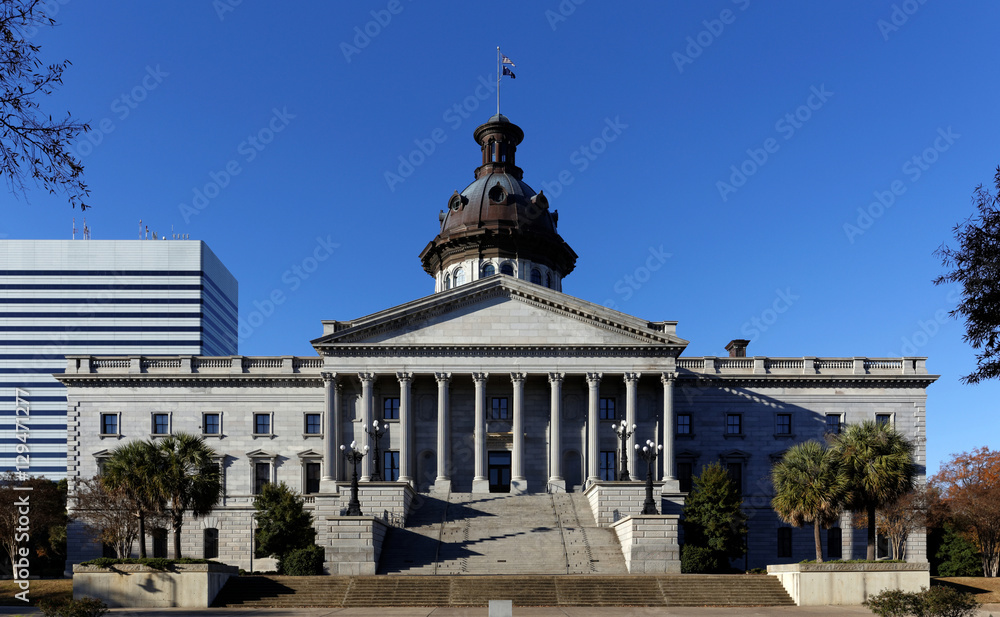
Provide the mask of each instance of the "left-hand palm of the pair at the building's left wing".
{"label": "left-hand palm of the pair at the building's left wing", "polygon": [[146,556],[146,517],[163,511],[166,497],[158,484],[159,455],[149,441],[132,441],[116,448],[104,464],[101,484],[121,495],[139,519],[139,557]]}

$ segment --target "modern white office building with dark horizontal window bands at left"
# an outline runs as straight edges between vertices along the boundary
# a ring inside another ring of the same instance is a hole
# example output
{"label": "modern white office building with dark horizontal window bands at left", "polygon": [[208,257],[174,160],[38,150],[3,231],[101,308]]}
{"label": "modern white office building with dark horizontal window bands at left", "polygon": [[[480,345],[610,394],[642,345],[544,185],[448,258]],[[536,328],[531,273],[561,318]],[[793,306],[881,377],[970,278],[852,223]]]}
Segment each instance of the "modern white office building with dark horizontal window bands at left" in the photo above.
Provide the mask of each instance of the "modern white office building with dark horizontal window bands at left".
{"label": "modern white office building with dark horizontal window bands at left", "polygon": [[236,352],[236,279],[203,242],[0,240],[0,472],[66,475],[67,354]]}

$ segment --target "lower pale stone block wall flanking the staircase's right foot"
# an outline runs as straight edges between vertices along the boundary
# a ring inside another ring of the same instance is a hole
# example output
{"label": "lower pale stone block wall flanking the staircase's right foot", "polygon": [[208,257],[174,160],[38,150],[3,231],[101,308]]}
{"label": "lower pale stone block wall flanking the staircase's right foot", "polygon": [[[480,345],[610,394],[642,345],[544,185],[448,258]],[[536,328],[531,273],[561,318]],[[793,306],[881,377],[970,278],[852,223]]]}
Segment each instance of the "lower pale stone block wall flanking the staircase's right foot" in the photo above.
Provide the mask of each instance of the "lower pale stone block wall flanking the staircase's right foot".
{"label": "lower pale stone block wall flanking the staircase's right foot", "polygon": [[628,516],[611,524],[630,574],[680,573],[679,520],[676,514]]}

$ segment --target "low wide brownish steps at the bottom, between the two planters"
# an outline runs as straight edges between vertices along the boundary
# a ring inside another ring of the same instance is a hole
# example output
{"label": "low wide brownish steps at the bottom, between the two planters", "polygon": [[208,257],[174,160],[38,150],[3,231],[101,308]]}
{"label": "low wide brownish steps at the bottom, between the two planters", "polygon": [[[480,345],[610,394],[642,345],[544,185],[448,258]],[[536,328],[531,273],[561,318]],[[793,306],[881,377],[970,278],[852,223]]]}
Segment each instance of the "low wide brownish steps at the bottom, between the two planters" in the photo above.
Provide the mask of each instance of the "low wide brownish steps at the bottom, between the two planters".
{"label": "low wide brownish steps at the bottom, between the two planters", "polygon": [[792,606],[764,575],[243,576],[213,606]]}

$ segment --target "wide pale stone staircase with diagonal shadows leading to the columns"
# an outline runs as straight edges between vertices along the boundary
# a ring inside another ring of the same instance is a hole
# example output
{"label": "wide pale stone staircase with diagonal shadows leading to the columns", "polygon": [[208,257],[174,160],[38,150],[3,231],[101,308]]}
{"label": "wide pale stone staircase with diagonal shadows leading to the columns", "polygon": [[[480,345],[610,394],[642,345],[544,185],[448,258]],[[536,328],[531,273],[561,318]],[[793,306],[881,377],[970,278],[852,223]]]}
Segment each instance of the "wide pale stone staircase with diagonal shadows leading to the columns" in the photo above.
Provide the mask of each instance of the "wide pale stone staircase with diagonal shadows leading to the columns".
{"label": "wide pale stone staircase with diagonal shadows leading to the columns", "polygon": [[614,531],[579,493],[421,495],[386,534],[380,574],[625,574]]}

